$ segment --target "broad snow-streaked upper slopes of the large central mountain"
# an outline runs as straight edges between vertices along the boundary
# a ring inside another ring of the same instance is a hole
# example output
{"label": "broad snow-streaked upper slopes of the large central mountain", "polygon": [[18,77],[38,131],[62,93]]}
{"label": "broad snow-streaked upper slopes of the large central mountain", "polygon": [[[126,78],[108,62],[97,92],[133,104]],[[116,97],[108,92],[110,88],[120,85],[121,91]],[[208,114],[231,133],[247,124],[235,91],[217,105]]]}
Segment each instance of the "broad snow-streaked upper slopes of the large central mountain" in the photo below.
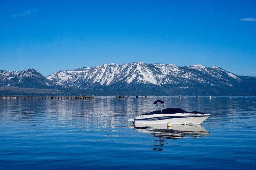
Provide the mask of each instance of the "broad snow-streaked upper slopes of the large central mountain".
{"label": "broad snow-streaked upper slopes of the large central mountain", "polygon": [[210,86],[234,86],[242,81],[217,66],[201,64],[177,66],[175,64],[145,64],[143,62],[118,65],[103,64],[76,70],[58,71],[46,77],[56,85],[87,89],[94,86],[114,84],[153,84],[157,86],[177,85],[187,88],[190,84],[202,83]]}

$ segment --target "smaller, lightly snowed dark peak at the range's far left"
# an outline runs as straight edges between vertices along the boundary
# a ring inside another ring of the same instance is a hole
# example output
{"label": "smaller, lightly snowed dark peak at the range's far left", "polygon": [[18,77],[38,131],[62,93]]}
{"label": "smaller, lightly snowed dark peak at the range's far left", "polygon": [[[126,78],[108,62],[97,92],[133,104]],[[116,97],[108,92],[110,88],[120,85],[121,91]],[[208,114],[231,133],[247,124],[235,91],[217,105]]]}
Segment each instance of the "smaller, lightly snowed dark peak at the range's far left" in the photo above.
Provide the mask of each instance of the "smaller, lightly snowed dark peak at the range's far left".
{"label": "smaller, lightly snowed dark peak at the range's far left", "polygon": [[46,89],[56,88],[55,84],[32,68],[23,71],[0,70],[0,87],[5,86]]}

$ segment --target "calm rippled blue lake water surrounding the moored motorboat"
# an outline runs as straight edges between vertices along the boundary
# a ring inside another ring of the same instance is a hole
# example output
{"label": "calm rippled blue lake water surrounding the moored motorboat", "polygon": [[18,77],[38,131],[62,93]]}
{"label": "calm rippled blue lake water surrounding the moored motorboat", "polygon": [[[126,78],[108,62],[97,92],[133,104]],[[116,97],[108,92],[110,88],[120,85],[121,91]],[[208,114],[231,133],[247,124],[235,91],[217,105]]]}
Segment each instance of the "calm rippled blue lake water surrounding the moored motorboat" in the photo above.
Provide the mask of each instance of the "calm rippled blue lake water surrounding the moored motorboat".
{"label": "calm rippled blue lake water surrounding the moored motorboat", "polygon": [[163,97],[202,127],[136,127],[156,98],[0,100],[0,169],[255,169],[256,98]]}

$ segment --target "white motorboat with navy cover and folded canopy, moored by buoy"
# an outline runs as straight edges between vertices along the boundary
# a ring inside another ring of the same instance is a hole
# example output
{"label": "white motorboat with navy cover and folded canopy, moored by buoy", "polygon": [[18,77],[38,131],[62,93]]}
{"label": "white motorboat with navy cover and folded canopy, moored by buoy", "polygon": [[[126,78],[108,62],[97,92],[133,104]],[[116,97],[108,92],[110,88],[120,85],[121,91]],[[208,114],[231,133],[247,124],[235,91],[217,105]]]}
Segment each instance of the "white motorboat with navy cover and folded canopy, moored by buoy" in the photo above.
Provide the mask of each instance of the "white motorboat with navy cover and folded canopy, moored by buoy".
{"label": "white motorboat with navy cover and folded canopy, moored by buoy", "polygon": [[[158,105],[160,103],[160,106]],[[153,108],[150,109],[148,113],[141,114],[134,119],[129,119],[136,124],[167,124],[171,122],[172,124],[200,124],[207,118],[210,114],[205,114],[198,111],[187,112],[181,108],[168,108],[164,105],[162,100],[156,100],[153,103]],[[165,109],[162,109],[165,106]],[[154,110],[158,108],[158,110]]]}

